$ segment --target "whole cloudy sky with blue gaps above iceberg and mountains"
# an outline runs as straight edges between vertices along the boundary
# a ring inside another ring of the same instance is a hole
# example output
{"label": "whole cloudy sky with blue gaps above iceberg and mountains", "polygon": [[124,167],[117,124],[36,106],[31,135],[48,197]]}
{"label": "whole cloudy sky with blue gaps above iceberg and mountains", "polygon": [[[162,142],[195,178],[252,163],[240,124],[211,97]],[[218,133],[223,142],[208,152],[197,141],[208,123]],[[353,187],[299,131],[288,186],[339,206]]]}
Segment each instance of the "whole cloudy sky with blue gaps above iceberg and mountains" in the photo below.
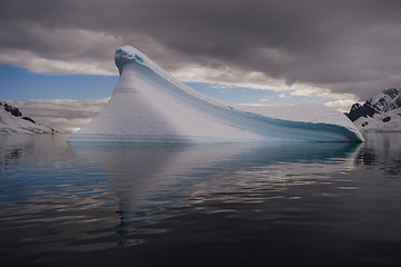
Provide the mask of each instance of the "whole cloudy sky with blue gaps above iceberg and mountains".
{"label": "whole cloudy sky with blue gaps above iceberg and mountains", "polygon": [[78,129],[129,44],[222,101],[347,111],[400,88],[400,26],[397,0],[1,0],[0,99]]}

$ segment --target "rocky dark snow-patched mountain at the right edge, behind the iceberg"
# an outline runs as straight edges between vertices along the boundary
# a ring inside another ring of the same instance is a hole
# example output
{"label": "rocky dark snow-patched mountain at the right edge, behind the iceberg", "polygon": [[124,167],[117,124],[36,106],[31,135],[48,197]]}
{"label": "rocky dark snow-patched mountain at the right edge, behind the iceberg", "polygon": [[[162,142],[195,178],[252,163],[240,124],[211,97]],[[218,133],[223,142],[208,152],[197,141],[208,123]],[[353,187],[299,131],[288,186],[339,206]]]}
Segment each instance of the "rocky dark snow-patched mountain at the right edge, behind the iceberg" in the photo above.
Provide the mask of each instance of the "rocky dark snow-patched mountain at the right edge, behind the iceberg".
{"label": "rocky dark snow-patched mountain at the right edge, behind the iceberg", "polygon": [[347,116],[360,131],[401,132],[401,90],[390,88],[363,105],[354,103]]}

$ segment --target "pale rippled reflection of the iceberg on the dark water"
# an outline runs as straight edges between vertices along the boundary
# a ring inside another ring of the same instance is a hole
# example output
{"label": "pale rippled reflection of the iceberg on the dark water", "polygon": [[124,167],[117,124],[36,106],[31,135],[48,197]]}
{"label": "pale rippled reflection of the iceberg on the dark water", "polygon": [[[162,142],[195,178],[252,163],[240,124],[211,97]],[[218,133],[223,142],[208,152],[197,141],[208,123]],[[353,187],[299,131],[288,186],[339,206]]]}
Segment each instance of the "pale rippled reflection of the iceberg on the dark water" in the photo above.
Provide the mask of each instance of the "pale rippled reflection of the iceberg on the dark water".
{"label": "pale rippled reflection of the iceberg on the dark water", "polygon": [[[70,144],[99,165],[119,199],[119,234],[162,233],[151,227],[170,207],[186,207],[230,194],[230,201],[258,201],[259,189],[315,182],[353,168],[360,147],[352,142],[291,144]],[[234,207],[233,207],[234,208]],[[215,207],[219,211],[219,208]],[[141,244],[132,239],[127,244]]]}

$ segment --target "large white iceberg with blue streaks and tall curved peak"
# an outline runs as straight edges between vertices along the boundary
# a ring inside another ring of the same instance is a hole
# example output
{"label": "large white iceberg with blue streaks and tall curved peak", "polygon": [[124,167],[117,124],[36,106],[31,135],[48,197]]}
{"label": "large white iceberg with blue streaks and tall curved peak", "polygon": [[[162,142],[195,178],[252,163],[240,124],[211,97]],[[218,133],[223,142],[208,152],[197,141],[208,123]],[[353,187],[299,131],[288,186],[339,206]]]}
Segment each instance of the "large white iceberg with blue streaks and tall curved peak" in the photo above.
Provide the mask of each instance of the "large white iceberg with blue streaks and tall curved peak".
{"label": "large white iceberg with blue streaks and tall curved peak", "polygon": [[120,79],[109,102],[69,141],[363,141],[354,125],[330,108],[317,111],[312,105],[299,116],[297,106],[283,112],[223,103],[130,46],[117,49],[114,61]]}

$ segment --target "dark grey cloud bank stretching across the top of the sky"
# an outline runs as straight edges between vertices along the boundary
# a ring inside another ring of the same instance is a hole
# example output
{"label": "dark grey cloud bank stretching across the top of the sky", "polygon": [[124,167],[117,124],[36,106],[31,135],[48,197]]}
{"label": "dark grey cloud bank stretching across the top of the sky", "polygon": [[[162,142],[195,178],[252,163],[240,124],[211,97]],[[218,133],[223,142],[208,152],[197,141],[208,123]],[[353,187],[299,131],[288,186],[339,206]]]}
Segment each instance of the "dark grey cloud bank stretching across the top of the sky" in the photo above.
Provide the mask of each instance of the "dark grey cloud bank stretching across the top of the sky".
{"label": "dark grey cloud bank stretching across the top of the sky", "polygon": [[106,62],[132,44],[168,70],[228,66],[362,99],[401,83],[397,0],[2,0],[0,24],[3,53]]}

